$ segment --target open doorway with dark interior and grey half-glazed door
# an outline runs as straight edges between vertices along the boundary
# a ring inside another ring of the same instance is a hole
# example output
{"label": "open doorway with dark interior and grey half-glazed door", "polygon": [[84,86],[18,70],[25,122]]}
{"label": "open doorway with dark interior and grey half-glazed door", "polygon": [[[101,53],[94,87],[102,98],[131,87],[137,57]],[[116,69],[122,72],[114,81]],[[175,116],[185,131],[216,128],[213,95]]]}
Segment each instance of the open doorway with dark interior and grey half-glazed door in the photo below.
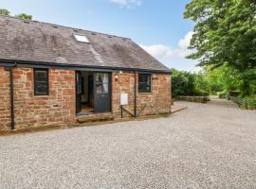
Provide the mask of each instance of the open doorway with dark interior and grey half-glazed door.
{"label": "open doorway with dark interior and grey half-glazed door", "polygon": [[111,75],[76,72],[76,106],[78,114],[111,111]]}

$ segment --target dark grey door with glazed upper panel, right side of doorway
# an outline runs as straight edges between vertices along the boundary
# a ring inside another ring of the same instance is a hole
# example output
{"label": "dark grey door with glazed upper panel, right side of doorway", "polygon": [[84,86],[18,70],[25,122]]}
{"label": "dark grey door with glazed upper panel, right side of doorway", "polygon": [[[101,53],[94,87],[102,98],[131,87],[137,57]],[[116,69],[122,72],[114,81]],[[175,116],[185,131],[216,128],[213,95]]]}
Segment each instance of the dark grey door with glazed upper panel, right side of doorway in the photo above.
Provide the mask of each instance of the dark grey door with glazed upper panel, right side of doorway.
{"label": "dark grey door with glazed upper panel, right side of doorway", "polygon": [[94,96],[95,112],[111,111],[111,74],[95,73],[94,74]]}

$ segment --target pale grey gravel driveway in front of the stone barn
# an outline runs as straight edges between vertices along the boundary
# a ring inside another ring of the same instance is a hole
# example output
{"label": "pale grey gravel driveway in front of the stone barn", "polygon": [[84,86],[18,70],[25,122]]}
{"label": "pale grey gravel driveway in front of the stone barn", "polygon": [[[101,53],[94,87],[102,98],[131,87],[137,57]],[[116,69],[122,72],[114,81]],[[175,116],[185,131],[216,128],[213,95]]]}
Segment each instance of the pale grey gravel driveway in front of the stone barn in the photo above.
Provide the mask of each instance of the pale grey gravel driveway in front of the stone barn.
{"label": "pale grey gravel driveway in front of the stone barn", "polygon": [[256,112],[177,104],[189,109],[0,137],[0,188],[256,188]]}

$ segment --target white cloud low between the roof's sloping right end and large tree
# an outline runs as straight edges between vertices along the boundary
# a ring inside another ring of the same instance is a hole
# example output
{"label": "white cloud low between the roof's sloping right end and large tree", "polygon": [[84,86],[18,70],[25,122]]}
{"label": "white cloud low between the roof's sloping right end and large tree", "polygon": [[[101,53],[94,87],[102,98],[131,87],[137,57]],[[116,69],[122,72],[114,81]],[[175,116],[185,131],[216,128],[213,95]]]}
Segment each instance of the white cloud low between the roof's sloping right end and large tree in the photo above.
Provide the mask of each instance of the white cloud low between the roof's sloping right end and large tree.
{"label": "white cloud low between the roof's sloping right end and large tree", "polygon": [[155,45],[140,45],[144,50],[151,54],[155,59],[160,60],[168,67],[174,67],[180,70],[196,71],[197,61],[187,60],[186,56],[192,53],[192,50],[188,49],[193,32],[188,32],[177,43],[177,47],[164,44]]}

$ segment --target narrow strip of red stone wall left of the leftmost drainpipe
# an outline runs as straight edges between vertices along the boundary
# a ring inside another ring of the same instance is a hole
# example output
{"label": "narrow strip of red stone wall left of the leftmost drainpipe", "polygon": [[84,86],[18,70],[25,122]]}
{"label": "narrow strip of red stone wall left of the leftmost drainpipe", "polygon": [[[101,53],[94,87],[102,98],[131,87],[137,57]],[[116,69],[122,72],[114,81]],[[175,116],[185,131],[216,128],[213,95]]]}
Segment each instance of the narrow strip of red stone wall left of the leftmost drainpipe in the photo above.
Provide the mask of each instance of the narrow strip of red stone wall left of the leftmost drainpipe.
{"label": "narrow strip of red stone wall left of the leftmost drainpipe", "polygon": [[0,129],[10,128],[9,71],[0,67]]}

